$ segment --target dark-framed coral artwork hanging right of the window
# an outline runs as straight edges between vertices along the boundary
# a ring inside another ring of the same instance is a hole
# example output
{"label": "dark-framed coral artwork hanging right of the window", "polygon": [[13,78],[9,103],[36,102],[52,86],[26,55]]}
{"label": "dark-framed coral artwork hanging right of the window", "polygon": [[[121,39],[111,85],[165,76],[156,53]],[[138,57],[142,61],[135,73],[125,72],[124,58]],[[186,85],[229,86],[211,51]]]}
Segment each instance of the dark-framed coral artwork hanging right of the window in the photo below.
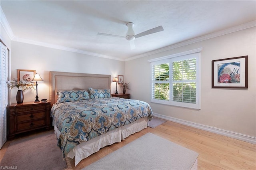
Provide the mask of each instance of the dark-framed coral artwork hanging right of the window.
{"label": "dark-framed coral artwork hanging right of the window", "polygon": [[212,60],[212,88],[248,88],[248,55]]}

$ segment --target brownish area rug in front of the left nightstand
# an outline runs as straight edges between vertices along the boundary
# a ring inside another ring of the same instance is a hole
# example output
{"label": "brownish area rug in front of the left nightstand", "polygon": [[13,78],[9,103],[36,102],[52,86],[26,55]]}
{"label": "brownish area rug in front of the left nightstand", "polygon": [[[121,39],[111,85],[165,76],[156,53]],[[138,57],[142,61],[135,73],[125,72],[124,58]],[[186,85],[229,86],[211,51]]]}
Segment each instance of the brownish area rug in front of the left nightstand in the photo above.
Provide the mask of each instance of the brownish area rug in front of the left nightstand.
{"label": "brownish area rug in front of the left nightstand", "polygon": [[54,131],[50,130],[13,140],[0,165],[18,170],[63,170],[66,161],[62,160]]}

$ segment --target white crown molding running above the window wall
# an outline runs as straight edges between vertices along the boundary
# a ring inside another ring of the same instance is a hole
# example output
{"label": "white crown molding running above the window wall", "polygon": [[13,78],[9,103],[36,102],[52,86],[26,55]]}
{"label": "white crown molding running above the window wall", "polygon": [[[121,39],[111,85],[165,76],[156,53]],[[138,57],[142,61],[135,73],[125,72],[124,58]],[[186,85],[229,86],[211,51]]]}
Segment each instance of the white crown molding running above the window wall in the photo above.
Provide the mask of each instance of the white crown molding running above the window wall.
{"label": "white crown molding running above the window wall", "polygon": [[247,28],[252,28],[252,27],[255,27],[255,26],[256,26],[256,20],[251,21],[251,22],[247,22],[245,24],[241,24],[239,26],[234,26],[232,28],[228,28],[226,30],[221,30],[221,31],[218,31],[218,32],[214,32],[214,33],[208,34],[206,36],[201,36],[201,37],[198,37],[198,38],[193,38],[191,40],[187,40],[187,41],[184,41],[184,42],[176,43],[176,44],[170,45],[168,47],[156,49],[156,50],[153,50],[153,51],[150,51],[150,52],[147,52],[147,53],[143,53],[143,54],[140,54],[140,55],[129,57],[129,58],[126,58],[124,61],[129,61],[129,60],[137,59],[137,58],[140,58],[140,57],[146,57],[148,55],[153,55],[153,54],[156,54],[156,53],[161,53],[161,52],[164,52],[164,51],[168,51],[170,49],[182,47],[182,46],[189,45],[189,44],[196,43],[196,42],[201,42],[201,41],[204,41],[204,40],[208,40],[210,38],[215,38],[215,37],[218,37],[218,36],[223,36],[223,35],[226,35],[226,34],[230,34],[232,32],[237,32],[237,31],[244,30],[244,29],[247,29]]}

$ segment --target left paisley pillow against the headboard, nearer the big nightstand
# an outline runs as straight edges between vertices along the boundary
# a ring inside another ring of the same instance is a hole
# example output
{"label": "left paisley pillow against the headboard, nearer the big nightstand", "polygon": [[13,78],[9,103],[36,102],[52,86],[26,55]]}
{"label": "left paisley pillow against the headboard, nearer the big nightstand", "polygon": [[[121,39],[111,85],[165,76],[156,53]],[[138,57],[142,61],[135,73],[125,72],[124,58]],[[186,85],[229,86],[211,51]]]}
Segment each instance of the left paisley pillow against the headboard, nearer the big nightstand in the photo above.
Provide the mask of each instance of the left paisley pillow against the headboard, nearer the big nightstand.
{"label": "left paisley pillow against the headboard, nearer the big nightstand", "polygon": [[86,90],[58,90],[58,103],[90,99]]}

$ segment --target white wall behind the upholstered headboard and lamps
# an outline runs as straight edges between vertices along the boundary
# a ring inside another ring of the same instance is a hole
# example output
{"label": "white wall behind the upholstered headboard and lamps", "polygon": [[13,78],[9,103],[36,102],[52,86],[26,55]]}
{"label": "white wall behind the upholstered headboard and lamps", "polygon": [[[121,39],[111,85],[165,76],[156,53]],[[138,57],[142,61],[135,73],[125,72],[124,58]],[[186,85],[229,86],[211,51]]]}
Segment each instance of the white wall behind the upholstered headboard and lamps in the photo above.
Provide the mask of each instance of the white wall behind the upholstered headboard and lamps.
{"label": "white wall behind the upholstered headboard and lamps", "polygon": [[[38,82],[39,99],[49,99],[49,71],[107,74],[112,79],[117,75],[124,75],[124,61],[14,41],[11,42],[11,47],[11,77],[17,77],[17,69],[36,70],[44,80]],[[111,91],[116,91],[115,83],[112,83]],[[119,86],[118,91],[121,91]],[[16,93],[16,89],[11,91],[11,103],[16,103]],[[36,91],[24,92],[24,102],[34,101],[35,97]]]}

